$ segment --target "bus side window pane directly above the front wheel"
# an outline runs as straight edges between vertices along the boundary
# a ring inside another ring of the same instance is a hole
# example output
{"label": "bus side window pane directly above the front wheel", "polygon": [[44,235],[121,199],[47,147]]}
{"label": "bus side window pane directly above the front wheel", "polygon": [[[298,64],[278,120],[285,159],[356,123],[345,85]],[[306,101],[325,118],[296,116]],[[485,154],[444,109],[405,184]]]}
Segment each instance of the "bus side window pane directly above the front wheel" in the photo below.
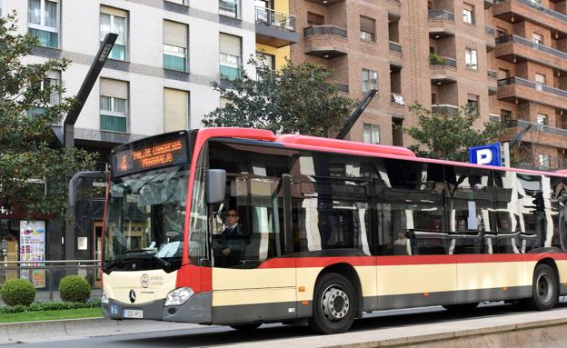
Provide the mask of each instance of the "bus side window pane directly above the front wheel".
{"label": "bus side window pane directly above the front wheel", "polygon": [[[292,169],[294,252],[371,254],[372,168],[357,157],[305,153]],[[350,251],[349,251],[350,250]]]}

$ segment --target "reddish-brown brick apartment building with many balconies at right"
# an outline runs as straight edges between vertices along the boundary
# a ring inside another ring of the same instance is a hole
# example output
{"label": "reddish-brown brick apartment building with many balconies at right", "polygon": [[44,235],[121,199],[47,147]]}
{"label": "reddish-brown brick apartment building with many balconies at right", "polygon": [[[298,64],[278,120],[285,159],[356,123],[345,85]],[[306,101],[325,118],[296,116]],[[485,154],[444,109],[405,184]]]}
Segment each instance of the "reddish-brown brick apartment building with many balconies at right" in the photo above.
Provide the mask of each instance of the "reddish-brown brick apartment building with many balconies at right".
{"label": "reddish-brown brick apartment building with many balconies at right", "polygon": [[[523,166],[567,164],[567,2],[549,0],[290,0],[295,62],[333,70],[341,90],[378,94],[350,139],[407,145],[396,125],[413,124],[404,104],[439,113],[478,108],[510,138]],[[565,128],[565,129],[563,129]]]}

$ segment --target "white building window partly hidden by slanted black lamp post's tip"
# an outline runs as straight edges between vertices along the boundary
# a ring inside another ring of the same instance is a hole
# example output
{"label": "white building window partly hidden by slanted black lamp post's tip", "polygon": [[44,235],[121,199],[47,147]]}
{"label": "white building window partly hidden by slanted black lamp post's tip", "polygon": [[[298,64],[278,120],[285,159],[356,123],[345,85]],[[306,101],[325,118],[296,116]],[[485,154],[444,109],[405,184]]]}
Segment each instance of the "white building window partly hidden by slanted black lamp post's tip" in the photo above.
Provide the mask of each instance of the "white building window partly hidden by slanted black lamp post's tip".
{"label": "white building window partly hidden by slanted black lamp post's tip", "polygon": [[108,33],[118,35],[108,57],[116,60],[127,60],[128,13],[114,7],[101,6],[100,16],[101,42]]}

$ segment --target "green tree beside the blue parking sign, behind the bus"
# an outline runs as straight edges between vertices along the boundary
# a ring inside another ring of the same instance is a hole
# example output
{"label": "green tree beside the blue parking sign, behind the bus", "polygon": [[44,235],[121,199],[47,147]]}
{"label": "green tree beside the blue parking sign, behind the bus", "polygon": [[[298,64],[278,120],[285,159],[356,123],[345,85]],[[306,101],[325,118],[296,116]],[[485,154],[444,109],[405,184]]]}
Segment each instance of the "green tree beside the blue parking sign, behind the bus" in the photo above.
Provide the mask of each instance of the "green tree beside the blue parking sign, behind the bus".
{"label": "green tree beside the blue parking sign, behind the bus", "polygon": [[504,133],[502,124],[494,122],[483,124],[482,130],[474,129],[479,114],[472,107],[463,106],[454,114],[433,114],[413,104],[410,112],[418,123],[403,131],[417,142],[409,148],[420,157],[466,162],[470,146],[492,143]]}

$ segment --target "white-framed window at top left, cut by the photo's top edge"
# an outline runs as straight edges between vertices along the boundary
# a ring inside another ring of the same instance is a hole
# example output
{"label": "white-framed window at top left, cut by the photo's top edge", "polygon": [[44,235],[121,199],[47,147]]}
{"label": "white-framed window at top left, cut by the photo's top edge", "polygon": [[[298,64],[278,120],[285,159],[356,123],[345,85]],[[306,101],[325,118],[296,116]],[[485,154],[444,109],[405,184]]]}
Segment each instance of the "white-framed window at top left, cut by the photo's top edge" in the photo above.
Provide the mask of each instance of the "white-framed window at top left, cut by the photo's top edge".
{"label": "white-framed window at top left, cut by the photo's top edge", "polygon": [[49,0],[29,0],[27,6],[29,34],[37,37],[39,45],[58,48],[59,4]]}

